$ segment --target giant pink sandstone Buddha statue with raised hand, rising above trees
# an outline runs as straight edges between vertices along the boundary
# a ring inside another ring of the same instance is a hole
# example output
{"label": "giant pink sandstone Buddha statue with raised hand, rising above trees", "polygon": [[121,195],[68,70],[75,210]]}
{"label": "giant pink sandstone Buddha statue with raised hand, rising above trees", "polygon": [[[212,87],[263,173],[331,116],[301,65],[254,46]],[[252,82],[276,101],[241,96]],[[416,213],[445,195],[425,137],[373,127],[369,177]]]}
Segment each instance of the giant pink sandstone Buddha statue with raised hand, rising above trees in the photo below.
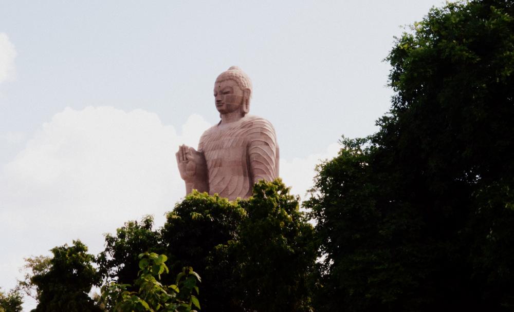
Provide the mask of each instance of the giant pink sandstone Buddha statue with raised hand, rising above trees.
{"label": "giant pink sandstone Buddha statue with raised hand, rising above trees", "polygon": [[181,145],[176,153],[186,193],[193,189],[234,200],[248,198],[259,180],[279,176],[279,146],[271,123],[249,115],[252,84],[237,66],[214,83],[221,121],[201,135],[198,150]]}

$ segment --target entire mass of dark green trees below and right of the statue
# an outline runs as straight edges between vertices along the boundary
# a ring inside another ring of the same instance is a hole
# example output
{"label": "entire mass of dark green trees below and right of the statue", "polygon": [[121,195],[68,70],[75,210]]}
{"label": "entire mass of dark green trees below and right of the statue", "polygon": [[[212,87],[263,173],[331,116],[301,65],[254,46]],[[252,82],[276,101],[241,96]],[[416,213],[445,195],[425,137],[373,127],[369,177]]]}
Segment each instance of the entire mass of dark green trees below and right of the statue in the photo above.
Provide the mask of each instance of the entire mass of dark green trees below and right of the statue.
{"label": "entire mass of dark green trees below and right of the statue", "polygon": [[431,9],[387,60],[391,110],[319,165],[306,213],[280,181],[192,193],[98,257],[29,259],[35,311],[514,310],[514,1]]}

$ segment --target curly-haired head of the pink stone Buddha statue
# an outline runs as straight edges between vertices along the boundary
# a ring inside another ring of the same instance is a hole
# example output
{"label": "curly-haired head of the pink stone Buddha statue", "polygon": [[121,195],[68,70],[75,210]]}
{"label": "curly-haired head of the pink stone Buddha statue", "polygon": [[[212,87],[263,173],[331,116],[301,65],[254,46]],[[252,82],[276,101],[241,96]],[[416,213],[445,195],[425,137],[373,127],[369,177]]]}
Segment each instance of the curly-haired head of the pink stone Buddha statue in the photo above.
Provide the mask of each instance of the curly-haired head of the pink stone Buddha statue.
{"label": "curly-haired head of the pink stone Buddha statue", "polygon": [[214,83],[216,109],[220,114],[239,110],[246,115],[250,111],[251,94],[250,77],[237,66],[219,74]]}

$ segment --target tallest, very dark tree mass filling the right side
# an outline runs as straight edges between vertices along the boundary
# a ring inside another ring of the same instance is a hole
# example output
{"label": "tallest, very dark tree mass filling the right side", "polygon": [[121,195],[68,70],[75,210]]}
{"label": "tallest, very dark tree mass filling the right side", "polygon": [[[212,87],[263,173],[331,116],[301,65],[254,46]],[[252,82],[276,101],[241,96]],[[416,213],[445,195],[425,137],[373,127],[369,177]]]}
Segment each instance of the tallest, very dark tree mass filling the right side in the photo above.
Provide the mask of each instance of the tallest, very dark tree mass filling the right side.
{"label": "tallest, very dark tree mass filling the right side", "polygon": [[306,202],[322,310],[514,306],[513,34],[512,1],[484,0],[397,39],[380,130],[343,140]]}

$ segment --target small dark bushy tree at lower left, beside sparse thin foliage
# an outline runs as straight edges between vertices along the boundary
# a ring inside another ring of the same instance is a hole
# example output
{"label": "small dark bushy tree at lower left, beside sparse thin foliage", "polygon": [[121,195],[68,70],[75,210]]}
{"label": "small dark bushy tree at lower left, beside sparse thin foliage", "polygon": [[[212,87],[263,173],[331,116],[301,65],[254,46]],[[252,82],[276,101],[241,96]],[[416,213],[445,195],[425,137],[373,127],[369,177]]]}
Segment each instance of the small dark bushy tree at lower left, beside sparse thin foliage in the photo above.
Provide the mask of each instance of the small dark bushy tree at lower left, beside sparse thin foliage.
{"label": "small dark bushy tree at lower left, beside sparse thin foliage", "polygon": [[91,265],[95,257],[87,253],[87,247],[80,241],[51,251],[53,257],[49,263],[45,258],[28,263],[36,272],[30,278],[30,283],[37,289],[39,302],[33,311],[98,311],[88,296],[91,287],[100,283],[100,277]]}

